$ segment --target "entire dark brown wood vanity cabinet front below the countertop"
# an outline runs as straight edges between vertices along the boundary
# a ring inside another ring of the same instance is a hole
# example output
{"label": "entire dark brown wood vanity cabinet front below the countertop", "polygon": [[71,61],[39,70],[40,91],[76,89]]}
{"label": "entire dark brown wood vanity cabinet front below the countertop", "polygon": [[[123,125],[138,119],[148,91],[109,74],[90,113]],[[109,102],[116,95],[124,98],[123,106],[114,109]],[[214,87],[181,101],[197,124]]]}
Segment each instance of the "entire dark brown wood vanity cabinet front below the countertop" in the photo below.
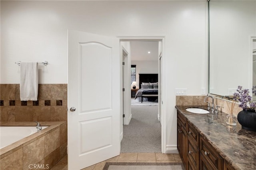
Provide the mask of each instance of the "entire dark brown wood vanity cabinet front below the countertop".
{"label": "entire dark brown wood vanity cabinet front below the countertop", "polygon": [[187,170],[234,170],[179,111],[177,142],[178,152]]}

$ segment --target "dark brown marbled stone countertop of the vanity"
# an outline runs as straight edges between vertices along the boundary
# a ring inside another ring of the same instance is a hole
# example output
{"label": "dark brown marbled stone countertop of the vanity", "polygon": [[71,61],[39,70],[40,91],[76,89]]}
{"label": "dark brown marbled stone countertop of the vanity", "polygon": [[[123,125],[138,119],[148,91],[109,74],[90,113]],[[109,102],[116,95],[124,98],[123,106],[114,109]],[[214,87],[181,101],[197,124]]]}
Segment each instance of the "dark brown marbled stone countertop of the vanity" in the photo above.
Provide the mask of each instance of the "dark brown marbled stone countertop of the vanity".
{"label": "dark brown marbled stone countertop of the vanity", "polygon": [[195,114],[188,107],[176,106],[198,132],[208,140],[229,164],[238,170],[256,170],[256,132],[245,130],[237,122],[232,127],[226,124],[226,113]]}

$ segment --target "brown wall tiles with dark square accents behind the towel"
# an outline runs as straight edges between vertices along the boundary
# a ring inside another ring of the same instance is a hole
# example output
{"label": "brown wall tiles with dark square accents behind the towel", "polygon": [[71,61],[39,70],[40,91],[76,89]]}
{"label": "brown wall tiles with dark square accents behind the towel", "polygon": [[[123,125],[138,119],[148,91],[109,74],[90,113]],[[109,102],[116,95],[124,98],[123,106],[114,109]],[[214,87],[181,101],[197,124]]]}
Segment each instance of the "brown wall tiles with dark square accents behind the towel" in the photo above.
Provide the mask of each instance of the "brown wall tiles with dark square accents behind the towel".
{"label": "brown wall tiles with dark square accents behind the towel", "polygon": [[1,121],[67,121],[67,84],[39,84],[38,101],[20,101],[19,84],[0,85]]}

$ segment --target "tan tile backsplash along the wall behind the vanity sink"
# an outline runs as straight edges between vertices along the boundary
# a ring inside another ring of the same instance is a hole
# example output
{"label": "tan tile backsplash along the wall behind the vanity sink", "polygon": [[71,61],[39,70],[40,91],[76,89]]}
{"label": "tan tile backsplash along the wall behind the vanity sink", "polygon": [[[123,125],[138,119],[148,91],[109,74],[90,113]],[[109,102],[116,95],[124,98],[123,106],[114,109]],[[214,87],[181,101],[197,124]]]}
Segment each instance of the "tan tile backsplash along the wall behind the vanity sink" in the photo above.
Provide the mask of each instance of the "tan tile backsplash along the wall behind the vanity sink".
{"label": "tan tile backsplash along the wall behind the vanity sink", "polygon": [[[204,102],[205,97],[206,96],[176,96],[176,106],[206,106],[207,103]],[[208,98],[208,101],[212,105],[212,99]],[[228,105],[231,109],[231,101],[214,97],[214,105],[220,107],[219,111],[227,114],[230,113]],[[237,116],[240,111],[242,111],[242,108],[236,103],[233,114]]]}

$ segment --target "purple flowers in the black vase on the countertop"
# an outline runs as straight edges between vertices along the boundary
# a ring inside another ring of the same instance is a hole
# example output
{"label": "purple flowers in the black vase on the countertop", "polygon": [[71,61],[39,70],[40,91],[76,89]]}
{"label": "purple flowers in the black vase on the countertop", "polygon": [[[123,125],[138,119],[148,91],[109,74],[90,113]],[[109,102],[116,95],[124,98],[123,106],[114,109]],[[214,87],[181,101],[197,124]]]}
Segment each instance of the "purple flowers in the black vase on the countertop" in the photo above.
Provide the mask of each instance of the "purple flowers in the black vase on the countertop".
{"label": "purple flowers in the black vase on the countertop", "polygon": [[[252,97],[249,95],[249,89],[243,89],[242,86],[238,86],[238,93],[234,93],[234,100],[240,101],[239,107],[244,110],[256,109],[256,102],[252,102]],[[256,95],[256,86],[252,87],[252,94]]]}

